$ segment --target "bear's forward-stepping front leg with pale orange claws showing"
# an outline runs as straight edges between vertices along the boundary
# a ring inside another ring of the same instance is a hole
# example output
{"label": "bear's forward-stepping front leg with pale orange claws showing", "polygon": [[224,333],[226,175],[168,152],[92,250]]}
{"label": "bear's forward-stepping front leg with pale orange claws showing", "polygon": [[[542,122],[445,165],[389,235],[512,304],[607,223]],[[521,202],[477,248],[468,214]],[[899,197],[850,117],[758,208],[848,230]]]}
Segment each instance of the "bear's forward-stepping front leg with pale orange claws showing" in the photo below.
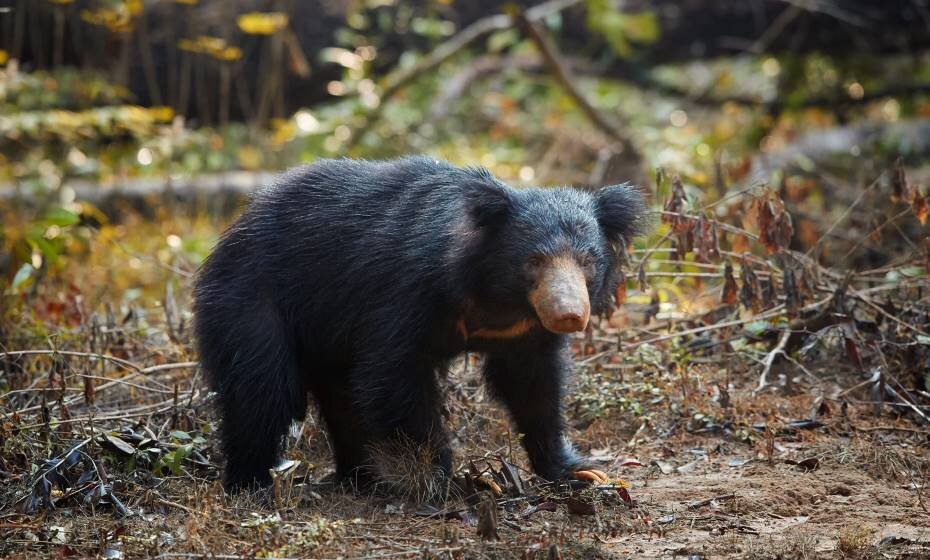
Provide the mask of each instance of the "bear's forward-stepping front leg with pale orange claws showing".
{"label": "bear's forward-stepping front leg with pale orange claws showing", "polygon": [[523,434],[536,474],[605,483],[607,475],[578,457],[564,436],[561,401],[570,372],[567,337],[548,334],[502,343],[488,352],[485,366],[488,383]]}

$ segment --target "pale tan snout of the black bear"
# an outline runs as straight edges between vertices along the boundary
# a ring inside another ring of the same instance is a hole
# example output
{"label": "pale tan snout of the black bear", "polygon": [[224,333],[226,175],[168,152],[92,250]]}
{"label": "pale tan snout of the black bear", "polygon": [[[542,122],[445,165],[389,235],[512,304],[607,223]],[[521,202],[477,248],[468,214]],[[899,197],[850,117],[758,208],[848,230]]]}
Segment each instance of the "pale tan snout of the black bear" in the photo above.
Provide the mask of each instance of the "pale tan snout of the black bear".
{"label": "pale tan snout of the black bear", "polygon": [[543,326],[555,333],[583,331],[591,316],[584,271],[571,257],[549,261],[529,300]]}

